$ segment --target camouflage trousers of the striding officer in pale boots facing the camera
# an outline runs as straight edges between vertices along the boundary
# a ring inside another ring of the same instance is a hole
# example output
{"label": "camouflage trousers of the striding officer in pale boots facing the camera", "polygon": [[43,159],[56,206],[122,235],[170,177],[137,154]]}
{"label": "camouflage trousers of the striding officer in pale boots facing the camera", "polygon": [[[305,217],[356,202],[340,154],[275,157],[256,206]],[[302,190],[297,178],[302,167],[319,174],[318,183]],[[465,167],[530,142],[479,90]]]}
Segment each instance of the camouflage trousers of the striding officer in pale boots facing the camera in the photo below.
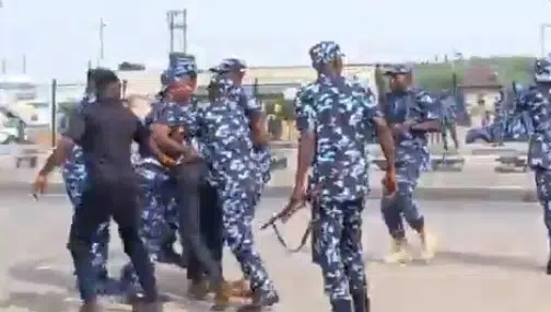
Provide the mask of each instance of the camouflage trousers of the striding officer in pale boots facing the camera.
{"label": "camouflage trousers of the striding officer in pale boots facing the camera", "polygon": [[396,167],[398,192],[390,198],[383,197],[380,199],[380,211],[388,232],[394,239],[406,236],[403,219],[415,231],[421,231],[424,227],[424,218],[413,201],[413,192],[421,174],[423,161],[422,158],[419,158],[419,161],[398,165]]}

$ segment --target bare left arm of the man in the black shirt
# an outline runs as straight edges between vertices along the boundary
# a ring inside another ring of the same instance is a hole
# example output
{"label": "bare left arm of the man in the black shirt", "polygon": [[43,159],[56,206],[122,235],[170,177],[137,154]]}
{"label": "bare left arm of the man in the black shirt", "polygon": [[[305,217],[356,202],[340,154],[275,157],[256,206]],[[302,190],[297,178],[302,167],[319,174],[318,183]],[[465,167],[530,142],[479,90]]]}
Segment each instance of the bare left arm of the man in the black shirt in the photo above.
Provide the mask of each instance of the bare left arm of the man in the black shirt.
{"label": "bare left arm of the man in the black shirt", "polygon": [[48,175],[51,171],[59,166],[71,154],[74,148],[74,142],[78,142],[84,136],[86,130],[84,112],[75,109],[69,117],[69,125],[61,134],[61,138],[57,141],[56,148],[51,154],[46,159],[46,163],[40,169],[40,175]]}

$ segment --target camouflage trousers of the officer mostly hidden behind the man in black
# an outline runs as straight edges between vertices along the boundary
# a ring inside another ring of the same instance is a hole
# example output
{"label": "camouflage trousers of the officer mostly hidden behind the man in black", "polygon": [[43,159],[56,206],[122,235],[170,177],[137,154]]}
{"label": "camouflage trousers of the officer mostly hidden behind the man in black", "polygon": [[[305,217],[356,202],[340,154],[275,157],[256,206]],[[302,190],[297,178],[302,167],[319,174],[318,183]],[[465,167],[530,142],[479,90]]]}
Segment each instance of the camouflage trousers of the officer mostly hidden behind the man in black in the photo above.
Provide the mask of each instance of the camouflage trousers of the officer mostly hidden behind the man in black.
{"label": "camouflage trousers of the officer mostly hidden behind the man in black", "polygon": [[[73,209],[78,209],[82,198],[85,176],[63,176],[63,180],[66,183],[67,195],[71,200]],[[109,222],[104,222],[97,228],[96,235],[94,236],[94,242],[92,244],[92,265],[97,269],[97,274],[103,277],[107,276],[107,257],[109,251],[108,244]]]}

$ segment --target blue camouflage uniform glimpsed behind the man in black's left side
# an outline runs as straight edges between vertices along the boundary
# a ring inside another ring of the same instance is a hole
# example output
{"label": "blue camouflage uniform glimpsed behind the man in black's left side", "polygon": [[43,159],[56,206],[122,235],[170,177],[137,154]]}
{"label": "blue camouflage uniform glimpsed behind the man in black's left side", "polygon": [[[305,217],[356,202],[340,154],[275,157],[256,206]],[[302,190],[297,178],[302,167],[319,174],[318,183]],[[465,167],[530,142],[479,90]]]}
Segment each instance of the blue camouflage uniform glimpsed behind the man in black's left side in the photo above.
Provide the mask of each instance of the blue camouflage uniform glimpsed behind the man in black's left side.
{"label": "blue camouflage uniform glimpsed behind the man in black's left side", "polygon": [[[80,105],[93,105],[95,99],[84,96]],[[67,124],[61,122],[61,125]],[[62,127],[62,126],[61,126]],[[60,132],[63,129],[59,129]],[[71,200],[73,209],[78,209],[82,198],[82,190],[86,180],[86,167],[82,148],[74,146],[71,155],[61,165],[61,175],[66,184],[67,195]],[[97,269],[99,285],[107,281],[107,256],[109,243],[109,222],[102,223],[97,229],[97,235],[92,244],[94,259],[92,264]],[[103,285],[105,286],[105,285]]]}

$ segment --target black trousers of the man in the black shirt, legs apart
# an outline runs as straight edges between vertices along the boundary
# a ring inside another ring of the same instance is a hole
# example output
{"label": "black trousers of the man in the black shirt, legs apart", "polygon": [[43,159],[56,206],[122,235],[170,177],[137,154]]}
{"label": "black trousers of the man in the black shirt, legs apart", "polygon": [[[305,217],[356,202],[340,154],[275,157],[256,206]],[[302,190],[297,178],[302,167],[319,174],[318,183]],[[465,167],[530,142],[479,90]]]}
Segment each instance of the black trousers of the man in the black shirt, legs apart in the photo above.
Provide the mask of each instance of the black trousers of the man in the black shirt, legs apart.
{"label": "black trousers of the man in the black shirt, legs apart", "polygon": [[125,253],[136,268],[144,291],[145,300],[157,300],[157,288],[153,265],[138,233],[140,227],[138,187],[128,183],[91,183],[82,194],[69,234],[68,247],[78,276],[79,291],[84,302],[96,299],[96,276],[92,266],[93,238],[103,222],[115,220],[118,226]]}

